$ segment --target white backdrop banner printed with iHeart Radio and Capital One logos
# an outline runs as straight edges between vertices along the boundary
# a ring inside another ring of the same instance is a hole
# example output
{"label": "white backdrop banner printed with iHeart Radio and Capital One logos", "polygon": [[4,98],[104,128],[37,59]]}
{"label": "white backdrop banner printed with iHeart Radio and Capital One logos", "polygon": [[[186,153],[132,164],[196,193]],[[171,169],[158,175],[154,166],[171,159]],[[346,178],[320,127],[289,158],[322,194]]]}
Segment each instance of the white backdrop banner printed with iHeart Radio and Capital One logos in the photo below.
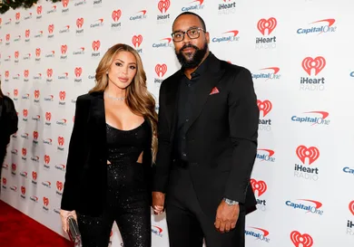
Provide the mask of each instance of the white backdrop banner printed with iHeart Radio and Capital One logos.
{"label": "white backdrop banner printed with iHeart Radio and Capital One logos", "polygon": [[[63,0],[0,15],[2,89],[19,128],[1,198],[56,233],[77,96],[114,43],[142,56],[148,88],[179,70],[172,22],[202,15],[217,57],[248,68],[261,110],[247,247],[354,246],[354,14],[339,0]],[[158,109],[158,106],[157,106]],[[93,195],[93,200],[95,195]],[[112,246],[123,246],[116,224]],[[168,246],[165,215],[152,245]]]}

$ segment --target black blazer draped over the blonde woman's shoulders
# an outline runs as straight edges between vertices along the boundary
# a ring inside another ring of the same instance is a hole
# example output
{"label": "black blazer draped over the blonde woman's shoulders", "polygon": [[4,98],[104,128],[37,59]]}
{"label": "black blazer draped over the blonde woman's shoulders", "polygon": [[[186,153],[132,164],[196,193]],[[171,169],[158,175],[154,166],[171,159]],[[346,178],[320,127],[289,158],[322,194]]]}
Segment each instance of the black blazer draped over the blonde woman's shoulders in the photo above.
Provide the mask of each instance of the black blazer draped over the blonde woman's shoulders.
{"label": "black blazer draped over the blonde woman's shoulders", "polygon": [[[145,120],[151,126],[150,120]],[[152,132],[143,150],[147,183],[152,181]],[[107,141],[103,92],[79,96],[66,163],[61,209],[102,213],[107,185]],[[149,186],[150,183],[149,183]]]}

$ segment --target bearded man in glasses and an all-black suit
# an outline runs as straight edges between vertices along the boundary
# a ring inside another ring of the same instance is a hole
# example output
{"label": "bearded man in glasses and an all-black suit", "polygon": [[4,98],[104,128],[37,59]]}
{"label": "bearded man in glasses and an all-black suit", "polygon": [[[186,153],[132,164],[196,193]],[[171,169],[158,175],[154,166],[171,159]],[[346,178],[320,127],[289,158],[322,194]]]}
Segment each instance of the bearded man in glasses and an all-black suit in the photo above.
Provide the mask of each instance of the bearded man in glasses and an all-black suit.
{"label": "bearded man in glasses and an all-black suit", "polygon": [[[171,247],[243,247],[259,109],[250,71],[217,59],[198,14],[172,25],[181,71],[162,82],[155,214],[166,209]],[[166,200],[165,200],[166,195]]]}

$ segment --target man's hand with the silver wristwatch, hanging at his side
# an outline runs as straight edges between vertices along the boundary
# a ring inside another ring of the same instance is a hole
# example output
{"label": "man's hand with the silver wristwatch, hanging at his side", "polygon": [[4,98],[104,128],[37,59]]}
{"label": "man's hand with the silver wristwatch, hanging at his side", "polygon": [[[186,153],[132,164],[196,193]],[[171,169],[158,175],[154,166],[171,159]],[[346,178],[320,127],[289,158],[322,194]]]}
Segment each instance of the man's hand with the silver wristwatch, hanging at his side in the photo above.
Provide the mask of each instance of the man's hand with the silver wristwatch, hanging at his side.
{"label": "man's hand with the silver wristwatch, hanging at his side", "polygon": [[220,233],[229,233],[230,230],[235,228],[239,214],[239,204],[229,205],[222,200],[216,211],[215,228]]}

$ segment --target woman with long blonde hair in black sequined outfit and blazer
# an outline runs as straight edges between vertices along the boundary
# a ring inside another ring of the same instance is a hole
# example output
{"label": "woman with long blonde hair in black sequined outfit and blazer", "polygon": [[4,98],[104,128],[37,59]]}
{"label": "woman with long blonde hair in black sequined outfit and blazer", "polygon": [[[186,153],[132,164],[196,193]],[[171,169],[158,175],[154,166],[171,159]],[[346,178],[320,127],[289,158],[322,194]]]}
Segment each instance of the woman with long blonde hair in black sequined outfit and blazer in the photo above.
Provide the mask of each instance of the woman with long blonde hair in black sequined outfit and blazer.
{"label": "woman with long blonde hair in black sequined outfit and blazer", "polygon": [[84,247],[106,247],[113,222],[125,247],[151,246],[152,164],[157,114],[139,54],[115,44],[77,98],[61,217],[77,219]]}

